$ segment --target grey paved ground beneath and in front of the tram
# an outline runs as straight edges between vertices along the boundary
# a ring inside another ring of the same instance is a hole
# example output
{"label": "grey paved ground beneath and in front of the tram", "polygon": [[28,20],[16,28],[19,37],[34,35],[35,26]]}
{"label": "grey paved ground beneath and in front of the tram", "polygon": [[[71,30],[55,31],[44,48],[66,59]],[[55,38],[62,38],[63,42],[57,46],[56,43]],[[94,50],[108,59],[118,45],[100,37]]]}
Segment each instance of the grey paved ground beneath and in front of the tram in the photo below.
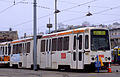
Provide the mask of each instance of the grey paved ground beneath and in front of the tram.
{"label": "grey paved ground beneath and in front of the tram", "polygon": [[[116,72],[116,70],[118,70],[118,72]],[[100,73],[85,73],[79,71],[33,71],[30,69],[0,68],[0,77],[120,77],[120,66],[112,66],[112,73],[107,73],[107,70],[102,70]]]}

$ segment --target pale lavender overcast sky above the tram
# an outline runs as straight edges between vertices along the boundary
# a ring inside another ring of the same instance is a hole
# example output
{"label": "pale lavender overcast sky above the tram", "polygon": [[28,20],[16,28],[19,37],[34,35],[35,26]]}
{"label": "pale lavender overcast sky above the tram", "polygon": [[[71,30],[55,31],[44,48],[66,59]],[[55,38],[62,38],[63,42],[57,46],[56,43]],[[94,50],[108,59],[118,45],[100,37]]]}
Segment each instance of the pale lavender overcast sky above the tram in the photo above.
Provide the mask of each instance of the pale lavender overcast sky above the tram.
{"label": "pale lavender overcast sky above the tram", "polygon": [[[46,24],[53,24],[54,1],[37,0],[37,33],[46,32]],[[120,22],[120,0],[57,0],[58,23],[81,25]],[[86,16],[90,12],[92,16]],[[33,34],[33,0],[0,0],[0,31],[12,28],[19,37]]]}

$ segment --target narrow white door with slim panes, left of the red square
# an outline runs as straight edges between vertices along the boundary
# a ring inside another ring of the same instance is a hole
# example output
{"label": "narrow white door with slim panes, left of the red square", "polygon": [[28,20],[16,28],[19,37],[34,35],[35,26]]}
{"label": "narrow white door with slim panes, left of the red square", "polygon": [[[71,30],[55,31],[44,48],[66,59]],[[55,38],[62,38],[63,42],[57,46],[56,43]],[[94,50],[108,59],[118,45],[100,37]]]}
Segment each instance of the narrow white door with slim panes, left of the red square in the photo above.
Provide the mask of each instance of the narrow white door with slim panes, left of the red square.
{"label": "narrow white door with slim panes, left of the red square", "polygon": [[51,39],[46,40],[46,68],[51,67]]}

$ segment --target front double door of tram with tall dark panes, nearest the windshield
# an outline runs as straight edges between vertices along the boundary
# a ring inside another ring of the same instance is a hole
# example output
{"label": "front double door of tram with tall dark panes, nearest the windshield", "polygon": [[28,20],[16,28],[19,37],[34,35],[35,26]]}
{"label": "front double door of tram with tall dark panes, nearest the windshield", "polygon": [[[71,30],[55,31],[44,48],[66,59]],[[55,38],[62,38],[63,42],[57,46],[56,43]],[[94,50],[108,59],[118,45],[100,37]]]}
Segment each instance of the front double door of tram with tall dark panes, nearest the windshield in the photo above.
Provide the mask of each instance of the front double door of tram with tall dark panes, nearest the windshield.
{"label": "front double door of tram with tall dark panes, nearest the windshield", "polygon": [[84,58],[83,58],[83,33],[74,35],[73,40],[73,65],[74,69],[83,69],[84,68]]}

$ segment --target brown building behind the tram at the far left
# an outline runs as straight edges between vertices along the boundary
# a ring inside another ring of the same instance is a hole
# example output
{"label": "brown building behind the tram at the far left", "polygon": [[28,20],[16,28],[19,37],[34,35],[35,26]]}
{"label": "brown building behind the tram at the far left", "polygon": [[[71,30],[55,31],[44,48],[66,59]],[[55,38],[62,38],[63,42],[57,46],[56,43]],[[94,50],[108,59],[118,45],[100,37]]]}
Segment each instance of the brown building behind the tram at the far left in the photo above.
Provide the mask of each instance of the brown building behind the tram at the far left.
{"label": "brown building behind the tram at the far left", "polygon": [[17,31],[0,31],[0,43],[5,41],[12,41],[18,39]]}

